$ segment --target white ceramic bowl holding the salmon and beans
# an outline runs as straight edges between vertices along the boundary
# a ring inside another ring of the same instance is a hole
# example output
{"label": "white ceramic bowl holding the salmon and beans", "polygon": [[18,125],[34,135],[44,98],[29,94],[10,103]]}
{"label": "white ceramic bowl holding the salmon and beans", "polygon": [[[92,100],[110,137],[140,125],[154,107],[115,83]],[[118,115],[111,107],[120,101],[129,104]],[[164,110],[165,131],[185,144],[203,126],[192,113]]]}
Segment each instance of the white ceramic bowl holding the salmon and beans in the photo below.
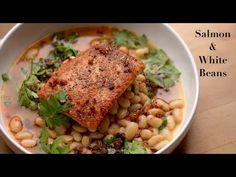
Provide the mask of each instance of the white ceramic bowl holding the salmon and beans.
{"label": "white ceramic bowl holding the salmon and beans", "polygon": [[[170,153],[187,133],[196,109],[199,95],[199,79],[194,58],[180,36],[167,24],[17,24],[2,39],[0,46],[0,71],[7,72],[14,60],[29,47],[30,44],[54,31],[78,26],[108,25],[125,28],[139,34],[146,34],[152,42],[164,49],[182,72],[185,89],[185,114],[183,122],[174,139],[158,153]],[[0,88],[2,80],[0,81]],[[30,153],[20,146],[8,133],[3,124],[0,110],[0,132],[6,143],[16,153]]]}

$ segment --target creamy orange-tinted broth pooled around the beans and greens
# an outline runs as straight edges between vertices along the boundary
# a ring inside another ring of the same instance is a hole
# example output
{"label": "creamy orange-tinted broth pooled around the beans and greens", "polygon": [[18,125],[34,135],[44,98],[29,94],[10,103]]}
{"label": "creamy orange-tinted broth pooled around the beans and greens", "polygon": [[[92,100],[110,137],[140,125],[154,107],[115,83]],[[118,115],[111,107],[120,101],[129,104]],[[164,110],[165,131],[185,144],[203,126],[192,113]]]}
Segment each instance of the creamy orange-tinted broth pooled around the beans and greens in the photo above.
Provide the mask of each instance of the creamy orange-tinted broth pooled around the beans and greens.
{"label": "creamy orange-tinted broth pooled around the beans and greens", "polygon": [[[71,29],[65,31],[65,34],[69,34],[71,32],[76,32],[78,34],[78,40],[75,43],[64,42],[65,45],[70,46],[71,48],[78,50],[80,53],[85,51],[91,46],[91,41],[97,39],[101,36],[113,36],[112,28],[107,27],[85,27],[78,29]],[[17,61],[10,67],[8,71],[8,75],[11,80],[4,82],[3,87],[1,88],[1,110],[5,125],[7,130],[9,130],[9,121],[13,115],[20,115],[23,121],[23,129],[29,130],[33,132],[33,139],[37,140],[37,145],[33,148],[27,148],[29,151],[33,153],[42,153],[39,145],[39,136],[41,128],[35,126],[34,120],[39,117],[37,111],[31,111],[26,108],[22,108],[18,104],[18,93],[23,80],[26,79],[26,75],[30,72],[30,62],[26,59],[26,54],[31,49],[38,49],[37,57],[34,61],[39,61],[40,58],[46,58],[48,53],[53,49],[52,45],[49,43],[51,36],[47,36],[40,41],[34,43],[29,49],[27,49],[22,56],[17,59]],[[130,50],[129,53],[134,55],[134,50]],[[8,97],[10,103],[4,104],[4,97]],[[164,89],[158,89],[157,97],[165,100],[166,102],[170,102],[171,100],[176,99],[184,99],[184,90],[181,83],[181,79],[179,82],[176,82],[173,87],[171,87],[168,91]],[[176,126],[172,132],[175,134],[179,125]],[[14,134],[9,130],[9,134],[14,137]]]}

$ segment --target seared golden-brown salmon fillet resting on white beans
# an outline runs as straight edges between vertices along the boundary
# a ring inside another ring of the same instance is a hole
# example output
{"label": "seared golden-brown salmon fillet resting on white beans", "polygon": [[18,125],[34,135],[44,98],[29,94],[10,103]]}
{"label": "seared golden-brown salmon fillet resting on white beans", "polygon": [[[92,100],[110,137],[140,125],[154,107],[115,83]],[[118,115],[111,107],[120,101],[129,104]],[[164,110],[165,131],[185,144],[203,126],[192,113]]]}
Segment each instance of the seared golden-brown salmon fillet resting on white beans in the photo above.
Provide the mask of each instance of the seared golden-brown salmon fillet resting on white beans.
{"label": "seared golden-brown salmon fillet resting on white beans", "polygon": [[97,128],[114,101],[143,71],[143,62],[113,44],[98,44],[68,60],[39,91],[41,98],[64,89],[71,108],[65,114],[87,128]]}

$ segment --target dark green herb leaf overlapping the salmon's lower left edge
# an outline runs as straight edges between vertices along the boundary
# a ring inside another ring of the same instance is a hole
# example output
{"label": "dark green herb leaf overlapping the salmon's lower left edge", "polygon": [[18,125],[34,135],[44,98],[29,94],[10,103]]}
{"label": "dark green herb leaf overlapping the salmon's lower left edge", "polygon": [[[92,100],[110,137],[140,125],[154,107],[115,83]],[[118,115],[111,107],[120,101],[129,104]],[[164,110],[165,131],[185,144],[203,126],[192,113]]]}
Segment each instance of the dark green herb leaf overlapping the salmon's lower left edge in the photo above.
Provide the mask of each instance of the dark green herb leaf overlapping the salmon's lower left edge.
{"label": "dark green herb leaf overlapping the salmon's lower left edge", "polygon": [[45,119],[47,125],[53,126],[63,125],[70,120],[69,117],[62,114],[68,111],[70,104],[67,101],[66,92],[61,90],[57,94],[51,96],[49,100],[40,99],[39,114]]}

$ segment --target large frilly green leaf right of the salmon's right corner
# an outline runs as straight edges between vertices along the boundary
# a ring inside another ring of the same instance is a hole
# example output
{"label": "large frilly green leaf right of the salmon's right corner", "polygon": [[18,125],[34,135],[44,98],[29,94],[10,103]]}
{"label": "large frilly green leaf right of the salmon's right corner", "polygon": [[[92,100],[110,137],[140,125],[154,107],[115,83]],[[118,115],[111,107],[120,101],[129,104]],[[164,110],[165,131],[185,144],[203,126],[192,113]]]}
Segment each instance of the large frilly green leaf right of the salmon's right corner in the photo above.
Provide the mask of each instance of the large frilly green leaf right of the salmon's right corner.
{"label": "large frilly green leaf right of the salmon's right corner", "polygon": [[142,61],[145,64],[146,78],[164,89],[172,87],[181,75],[162,49],[150,49]]}

